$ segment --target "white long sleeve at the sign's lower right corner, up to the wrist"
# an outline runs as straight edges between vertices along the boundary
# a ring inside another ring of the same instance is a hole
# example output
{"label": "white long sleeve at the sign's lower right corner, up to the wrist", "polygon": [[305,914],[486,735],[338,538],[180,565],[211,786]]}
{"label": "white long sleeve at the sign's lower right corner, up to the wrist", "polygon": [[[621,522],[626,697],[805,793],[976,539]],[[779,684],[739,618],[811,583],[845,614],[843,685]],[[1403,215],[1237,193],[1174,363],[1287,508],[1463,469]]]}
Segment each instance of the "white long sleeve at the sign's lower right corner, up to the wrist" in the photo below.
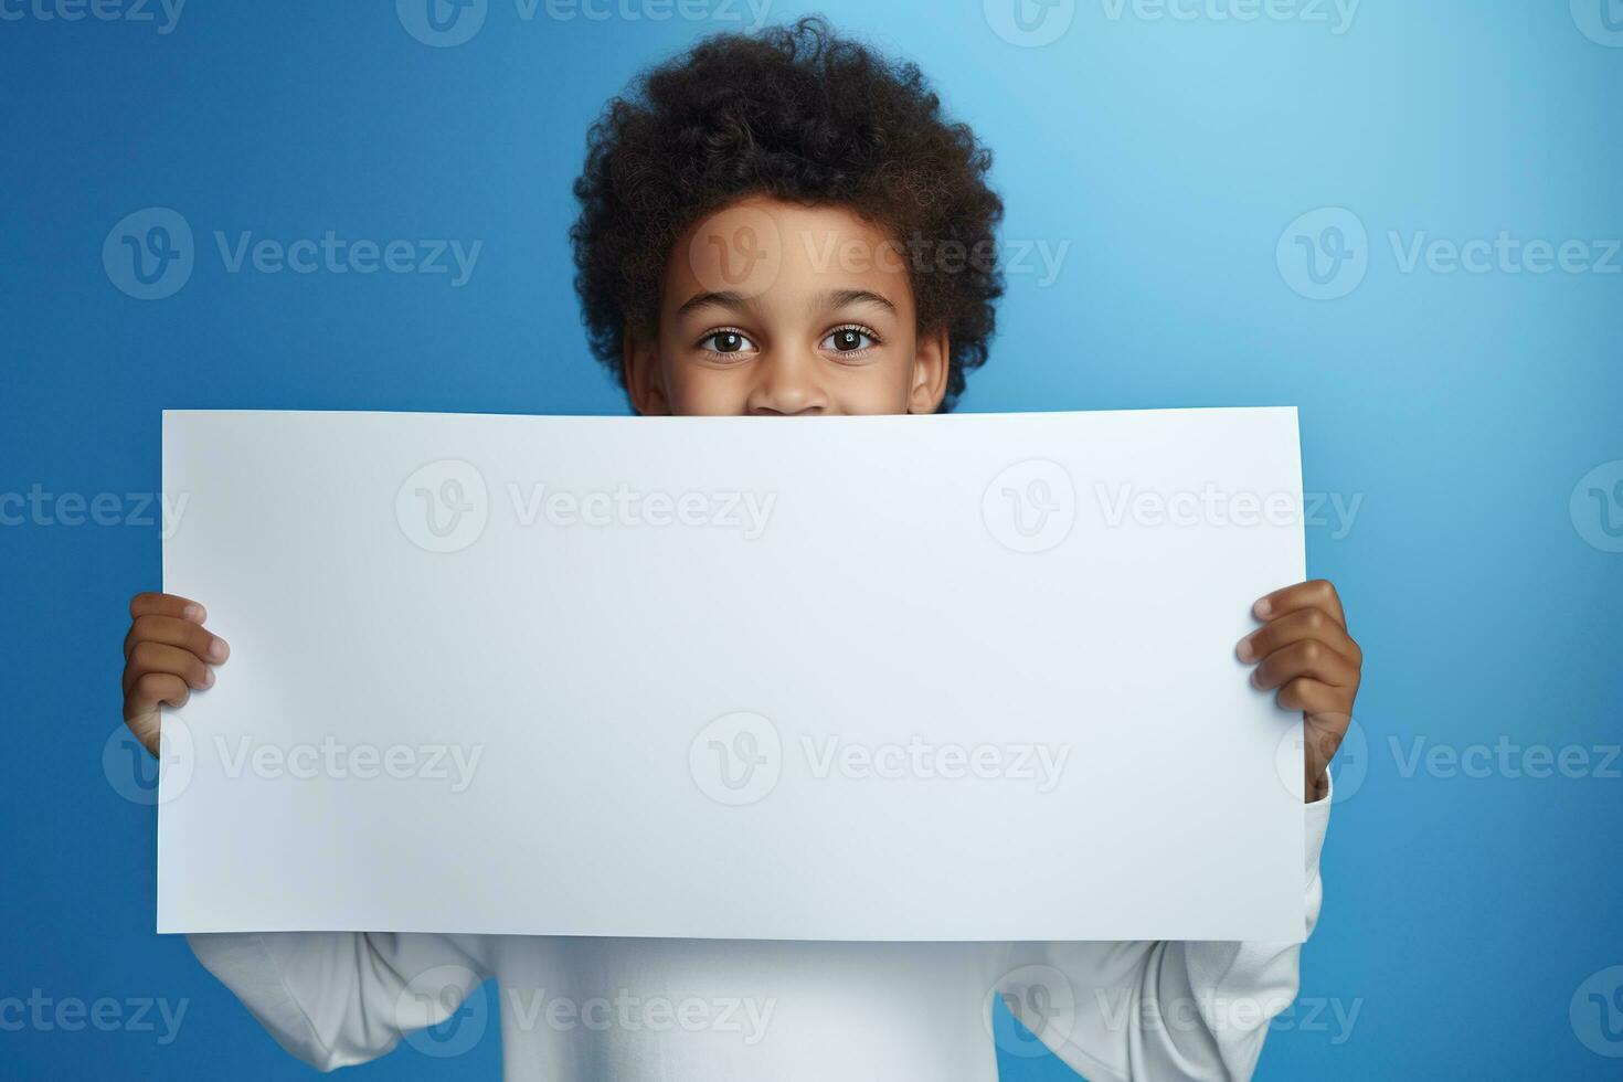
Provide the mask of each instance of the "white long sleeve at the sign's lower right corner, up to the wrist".
{"label": "white long sleeve at the sign's lower right corner, up to the wrist", "polygon": [[[1331,796],[1307,805],[1307,931],[1318,921]],[[1297,996],[1302,944],[1010,944],[998,990],[1089,1082],[1250,1079],[1269,1022]]]}

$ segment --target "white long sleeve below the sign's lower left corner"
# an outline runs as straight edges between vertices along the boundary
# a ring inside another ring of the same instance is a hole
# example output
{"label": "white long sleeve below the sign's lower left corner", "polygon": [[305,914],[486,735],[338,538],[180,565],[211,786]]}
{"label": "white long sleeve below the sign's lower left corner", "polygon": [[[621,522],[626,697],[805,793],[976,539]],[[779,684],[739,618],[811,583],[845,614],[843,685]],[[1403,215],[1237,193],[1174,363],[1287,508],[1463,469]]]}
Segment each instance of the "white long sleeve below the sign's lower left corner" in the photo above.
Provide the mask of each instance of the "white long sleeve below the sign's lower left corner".
{"label": "white long sleeve below the sign's lower left corner", "polygon": [[281,931],[187,936],[276,1041],[331,1071],[450,1017],[487,977],[476,936]]}

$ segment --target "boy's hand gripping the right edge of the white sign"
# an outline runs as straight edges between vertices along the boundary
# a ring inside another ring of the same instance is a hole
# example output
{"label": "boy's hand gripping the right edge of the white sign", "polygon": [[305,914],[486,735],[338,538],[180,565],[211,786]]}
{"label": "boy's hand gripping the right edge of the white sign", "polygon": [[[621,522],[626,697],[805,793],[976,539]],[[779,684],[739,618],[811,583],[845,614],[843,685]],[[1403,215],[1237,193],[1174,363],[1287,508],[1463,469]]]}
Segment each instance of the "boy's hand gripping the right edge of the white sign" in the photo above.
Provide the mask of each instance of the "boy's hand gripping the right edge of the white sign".
{"label": "boy's hand gripping the right edge of the white sign", "polygon": [[1302,711],[1308,803],[1329,792],[1324,769],[1352,722],[1352,701],[1363,675],[1363,650],[1347,634],[1336,587],[1324,579],[1274,590],[1251,607],[1261,628],[1240,639],[1242,662],[1259,662],[1251,686],[1279,688],[1279,706]]}

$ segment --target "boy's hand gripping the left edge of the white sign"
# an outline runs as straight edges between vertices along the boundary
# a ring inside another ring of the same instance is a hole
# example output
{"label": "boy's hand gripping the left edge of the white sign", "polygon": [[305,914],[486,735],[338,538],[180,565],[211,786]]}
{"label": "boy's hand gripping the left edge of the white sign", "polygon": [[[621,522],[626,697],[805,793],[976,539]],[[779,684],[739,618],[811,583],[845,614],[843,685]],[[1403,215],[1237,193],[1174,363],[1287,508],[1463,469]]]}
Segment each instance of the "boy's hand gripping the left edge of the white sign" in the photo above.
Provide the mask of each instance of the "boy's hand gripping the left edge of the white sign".
{"label": "boy's hand gripping the left edge of the white sign", "polygon": [[123,636],[123,723],[157,754],[159,704],[185,706],[193,688],[214,685],[230,657],[226,639],[203,629],[203,607],[174,594],[136,594]]}

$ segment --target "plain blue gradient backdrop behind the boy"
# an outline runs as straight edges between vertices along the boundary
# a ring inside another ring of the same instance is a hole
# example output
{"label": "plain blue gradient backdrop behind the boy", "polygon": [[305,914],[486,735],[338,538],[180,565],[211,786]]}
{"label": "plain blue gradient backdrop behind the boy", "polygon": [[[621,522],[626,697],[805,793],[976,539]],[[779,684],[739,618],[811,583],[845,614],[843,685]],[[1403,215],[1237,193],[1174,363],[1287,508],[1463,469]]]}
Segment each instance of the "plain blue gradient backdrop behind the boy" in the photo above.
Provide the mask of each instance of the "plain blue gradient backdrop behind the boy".
{"label": "plain blue gradient backdrop behind the boy", "polygon": [[[820,6],[915,58],[995,149],[1006,238],[1070,243],[1058,281],[1011,274],[964,409],[1295,404],[1307,488],[1363,498],[1344,537],[1308,532],[1368,662],[1302,988],[1358,1015],[1342,1035],[1298,1012],[1264,1079],[1623,1066],[1568,1015],[1581,981],[1623,964],[1623,780],[1406,772],[1389,743],[1620,740],[1623,555],[1586,542],[1597,521],[1569,495],[1623,459],[1623,276],[1406,273],[1388,238],[1623,235],[1623,49],[1581,32],[1582,8],[1368,0],[1332,32],[1332,8],[1178,21],[1087,0],[1022,47],[979,3]],[[623,412],[570,284],[584,130],[638,67],[737,24],[524,21],[490,0],[477,36],[428,47],[378,2],[195,3],[169,34],[3,10],[23,18],[0,21],[0,492],[153,492],[166,407]],[[805,10],[779,2],[771,21]],[[101,251],[151,206],[190,222],[196,266],[143,302]],[[1310,300],[1276,242],[1326,206],[1368,230],[1368,268]],[[213,242],[328,229],[484,250],[451,287],[230,274]],[[153,934],[154,814],[101,767],[157,530],[5,526],[0,581],[0,998],[190,999],[169,1046],[0,1032],[0,1074],[302,1076],[182,939]],[[492,1032],[359,1074],[498,1069]],[[1070,1074],[1006,1058],[1005,1077]]]}

